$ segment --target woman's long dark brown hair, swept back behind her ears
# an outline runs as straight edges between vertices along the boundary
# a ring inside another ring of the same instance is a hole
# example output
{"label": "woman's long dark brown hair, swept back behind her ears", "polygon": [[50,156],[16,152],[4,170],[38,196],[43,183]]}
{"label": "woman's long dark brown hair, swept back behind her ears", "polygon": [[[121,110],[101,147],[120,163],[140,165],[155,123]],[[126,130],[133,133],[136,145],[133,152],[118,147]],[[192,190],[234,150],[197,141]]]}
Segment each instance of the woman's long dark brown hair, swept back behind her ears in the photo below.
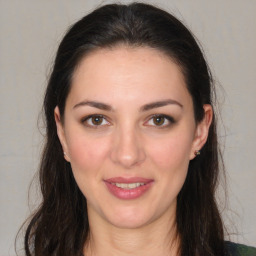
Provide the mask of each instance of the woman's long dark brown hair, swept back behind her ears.
{"label": "woman's long dark brown hair, swept back behind her ears", "polygon": [[[142,3],[112,4],[76,22],[60,43],[45,94],[46,141],[39,170],[43,199],[26,229],[27,256],[82,254],[89,234],[86,198],[63,158],[54,108],[58,106],[63,116],[73,72],[84,56],[120,43],[158,49],[181,67],[196,122],[204,117],[204,104],[214,105],[213,81],[202,51],[192,33],[171,14]],[[215,201],[220,162],[213,114],[208,140],[200,157],[190,162],[178,195],[182,256],[224,255],[223,224]]]}

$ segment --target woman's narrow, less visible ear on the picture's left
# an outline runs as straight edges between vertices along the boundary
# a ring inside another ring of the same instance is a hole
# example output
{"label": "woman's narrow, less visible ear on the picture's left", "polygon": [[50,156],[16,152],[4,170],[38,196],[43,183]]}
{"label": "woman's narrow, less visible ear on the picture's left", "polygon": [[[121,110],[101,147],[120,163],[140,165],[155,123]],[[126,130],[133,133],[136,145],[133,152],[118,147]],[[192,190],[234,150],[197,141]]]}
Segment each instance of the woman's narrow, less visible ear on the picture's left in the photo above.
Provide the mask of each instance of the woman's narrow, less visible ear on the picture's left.
{"label": "woman's narrow, less visible ear on the picture's left", "polygon": [[66,161],[70,162],[64,126],[61,121],[60,110],[58,106],[56,106],[54,109],[54,118],[55,118],[55,123],[57,127],[57,134],[63,149],[64,158],[66,159]]}

